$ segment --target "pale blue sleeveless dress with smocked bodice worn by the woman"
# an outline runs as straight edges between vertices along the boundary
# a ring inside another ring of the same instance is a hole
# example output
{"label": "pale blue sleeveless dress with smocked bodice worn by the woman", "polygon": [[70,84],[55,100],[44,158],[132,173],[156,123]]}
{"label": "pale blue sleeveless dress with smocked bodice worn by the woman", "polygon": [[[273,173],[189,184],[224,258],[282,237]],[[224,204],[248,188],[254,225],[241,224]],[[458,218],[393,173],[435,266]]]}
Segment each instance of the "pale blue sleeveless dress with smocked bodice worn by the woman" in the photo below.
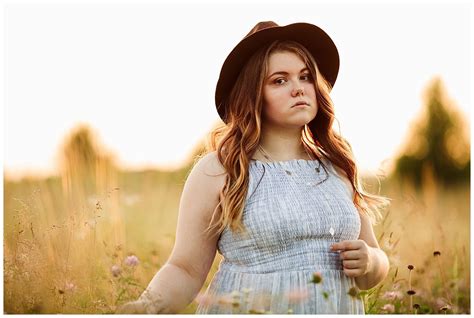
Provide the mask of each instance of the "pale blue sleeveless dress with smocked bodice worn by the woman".
{"label": "pale blue sleeveless dress with smocked bodice worn by the woman", "polygon": [[329,160],[252,160],[242,221],[247,233],[227,227],[218,240],[223,260],[196,314],[365,313],[330,250],[358,239],[360,217]]}

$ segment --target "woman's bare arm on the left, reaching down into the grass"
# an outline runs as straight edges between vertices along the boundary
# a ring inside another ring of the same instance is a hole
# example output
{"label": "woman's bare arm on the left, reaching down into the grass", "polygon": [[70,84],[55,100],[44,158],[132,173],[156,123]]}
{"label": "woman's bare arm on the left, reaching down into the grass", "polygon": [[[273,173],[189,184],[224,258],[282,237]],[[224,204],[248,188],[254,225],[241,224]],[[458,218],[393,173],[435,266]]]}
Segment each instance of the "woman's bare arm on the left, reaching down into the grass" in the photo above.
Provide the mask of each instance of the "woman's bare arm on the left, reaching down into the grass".
{"label": "woman's bare arm on the left, reaching down into the grass", "polygon": [[176,241],[166,264],[137,301],[117,313],[178,313],[199,293],[214,261],[218,235],[204,234],[225,183],[225,169],[215,152],[193,167],[179,205]]}

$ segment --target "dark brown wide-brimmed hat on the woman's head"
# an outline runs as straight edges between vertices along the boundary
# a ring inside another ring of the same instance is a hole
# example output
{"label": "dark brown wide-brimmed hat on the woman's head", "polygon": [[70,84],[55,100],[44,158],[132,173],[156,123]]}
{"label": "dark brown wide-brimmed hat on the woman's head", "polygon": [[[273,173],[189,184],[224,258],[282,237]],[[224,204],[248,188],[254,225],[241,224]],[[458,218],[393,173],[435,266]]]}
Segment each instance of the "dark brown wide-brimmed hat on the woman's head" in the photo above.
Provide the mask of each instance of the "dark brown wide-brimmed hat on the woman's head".
{"label": "dark brown wide-brimmed hat on the woman's head", "polygon": [[275,40],[292,40],[302,44],[313,55],[322,75],[334,86],[339,71],[339,53],[326,32],[309,23],[279,26],[273,21],[259,22],[230,52],[222,65],[215,96],[217,112],[222,120],[227,108],[225,99],[245,63],[259,48]]}

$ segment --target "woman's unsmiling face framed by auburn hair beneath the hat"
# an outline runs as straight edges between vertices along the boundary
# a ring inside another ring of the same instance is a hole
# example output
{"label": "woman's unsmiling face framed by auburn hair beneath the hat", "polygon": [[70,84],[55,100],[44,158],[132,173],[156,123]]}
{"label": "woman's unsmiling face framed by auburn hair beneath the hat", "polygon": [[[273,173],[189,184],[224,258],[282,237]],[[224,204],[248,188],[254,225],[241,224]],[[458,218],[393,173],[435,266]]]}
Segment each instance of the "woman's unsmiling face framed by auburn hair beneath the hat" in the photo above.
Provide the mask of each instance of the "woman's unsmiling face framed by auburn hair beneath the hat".
{"label": "woman's unsmiling face framed by auburn hair beneath the hat", "polygon": [[[316,117],[314,80],[303,60],[292,52],[270,55],[263,85],[263,121],[281,127],[301,128]],[[295,106],[298,102],[306,105]]]}

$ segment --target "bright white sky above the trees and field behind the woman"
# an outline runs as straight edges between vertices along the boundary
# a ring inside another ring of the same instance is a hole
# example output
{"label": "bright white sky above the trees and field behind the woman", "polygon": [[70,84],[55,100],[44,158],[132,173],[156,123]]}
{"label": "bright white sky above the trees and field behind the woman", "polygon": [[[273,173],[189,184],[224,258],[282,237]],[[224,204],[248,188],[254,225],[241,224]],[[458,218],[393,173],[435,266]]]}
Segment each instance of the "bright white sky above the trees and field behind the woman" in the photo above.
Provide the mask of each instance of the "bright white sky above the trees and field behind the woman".
{"label": "bright white sky above the trees and field behind the woman", "polygon": [[336,116],[364,170],[393,156],[434,76],[470,116],[467,2],[17,3],[3,8],[7,175],[53,171],[79,122],[126,167],[182,164],[219,119],[224,59],[263,20],[313,23],[334,40]]}

